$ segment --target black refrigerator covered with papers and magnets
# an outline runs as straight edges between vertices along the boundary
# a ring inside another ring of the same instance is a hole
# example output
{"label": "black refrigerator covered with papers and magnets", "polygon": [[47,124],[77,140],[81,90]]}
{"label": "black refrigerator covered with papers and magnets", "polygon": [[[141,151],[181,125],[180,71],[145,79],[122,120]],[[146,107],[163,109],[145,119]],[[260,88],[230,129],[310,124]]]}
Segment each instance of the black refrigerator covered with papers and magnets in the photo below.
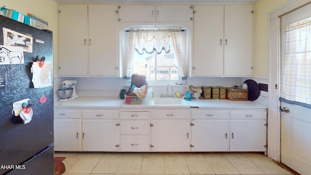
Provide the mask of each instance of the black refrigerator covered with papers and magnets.
{"label": "black refrigerator covered with papers and magnets", "polygon": [[52,45],[0,15],[0,175],[54,175]]}

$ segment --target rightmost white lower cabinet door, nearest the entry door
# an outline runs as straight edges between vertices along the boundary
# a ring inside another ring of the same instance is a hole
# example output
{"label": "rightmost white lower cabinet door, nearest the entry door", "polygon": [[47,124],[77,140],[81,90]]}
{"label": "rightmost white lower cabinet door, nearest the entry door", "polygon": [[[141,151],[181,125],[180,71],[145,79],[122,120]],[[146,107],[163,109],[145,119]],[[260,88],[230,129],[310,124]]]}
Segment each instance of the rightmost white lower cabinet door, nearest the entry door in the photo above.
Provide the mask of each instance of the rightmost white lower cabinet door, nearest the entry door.
{"label": "rightmost white lower cabinet door, nearest the entry door", "polygon": [[265,120],[231,120],[230,151],[266,151]]}

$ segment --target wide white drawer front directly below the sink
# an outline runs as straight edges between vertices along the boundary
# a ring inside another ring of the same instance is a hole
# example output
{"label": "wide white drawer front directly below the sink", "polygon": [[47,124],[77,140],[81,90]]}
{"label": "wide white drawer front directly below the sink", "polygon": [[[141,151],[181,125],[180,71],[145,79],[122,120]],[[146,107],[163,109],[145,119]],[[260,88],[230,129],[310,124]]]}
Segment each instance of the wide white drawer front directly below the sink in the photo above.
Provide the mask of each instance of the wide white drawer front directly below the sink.
{"label": "wide white drawer front directly below the sink", "polygon": [[190,111],[159,111],[151,112],[152,119],[190,119]]}

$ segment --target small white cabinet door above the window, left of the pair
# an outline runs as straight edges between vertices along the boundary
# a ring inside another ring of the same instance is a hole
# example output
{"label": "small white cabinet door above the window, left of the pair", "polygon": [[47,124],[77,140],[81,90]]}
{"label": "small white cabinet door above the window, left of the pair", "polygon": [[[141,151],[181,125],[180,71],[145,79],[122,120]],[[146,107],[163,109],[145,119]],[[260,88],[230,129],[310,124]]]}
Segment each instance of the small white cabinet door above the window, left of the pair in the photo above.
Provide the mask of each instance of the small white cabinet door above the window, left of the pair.
{"label": "small white cabinet door above the window, left of the pair", "polygon": [[154,22],[155,6],[154,5],[120,5],[119,19],[120,22]]}

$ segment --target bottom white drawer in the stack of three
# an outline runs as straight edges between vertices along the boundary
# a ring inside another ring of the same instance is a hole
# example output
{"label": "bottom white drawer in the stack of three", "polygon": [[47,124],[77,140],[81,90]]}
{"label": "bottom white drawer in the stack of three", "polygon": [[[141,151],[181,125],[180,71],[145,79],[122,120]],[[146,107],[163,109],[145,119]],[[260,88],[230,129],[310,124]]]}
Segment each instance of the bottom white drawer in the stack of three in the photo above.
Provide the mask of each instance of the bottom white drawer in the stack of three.
{"label": "bottom white drawer in the stack of three", "polygon": [[122,152],[148,152],[149,137],[148,136],[121,136],[120,141]]}

